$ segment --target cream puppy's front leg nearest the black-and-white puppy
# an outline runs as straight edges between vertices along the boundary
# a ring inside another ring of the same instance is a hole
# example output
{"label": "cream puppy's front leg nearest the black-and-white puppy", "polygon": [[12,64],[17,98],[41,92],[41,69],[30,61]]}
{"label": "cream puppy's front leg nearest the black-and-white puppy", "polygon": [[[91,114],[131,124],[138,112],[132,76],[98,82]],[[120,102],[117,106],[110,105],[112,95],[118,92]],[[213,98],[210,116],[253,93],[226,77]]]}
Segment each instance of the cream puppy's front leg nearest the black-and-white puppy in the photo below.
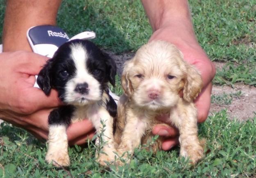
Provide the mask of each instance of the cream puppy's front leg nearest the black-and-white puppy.
{"label": "cream puppy's front leg nearest the black-and-white puppy", "polygon": [[[147,128],[147,120],[143,117],[139,118],[133,112],[127,112],[126,125],[122,133],[121,143],[117,148],[118,155],[122,156],[124,154],[122,158],[126,159],[127,163],[129,163],[128,154],[133,154],[134,149],[140,145],[141,138]],[[125,152],[128,152],[128,154]],[[120,161],[118,161],[118,164],[122,165]]]}

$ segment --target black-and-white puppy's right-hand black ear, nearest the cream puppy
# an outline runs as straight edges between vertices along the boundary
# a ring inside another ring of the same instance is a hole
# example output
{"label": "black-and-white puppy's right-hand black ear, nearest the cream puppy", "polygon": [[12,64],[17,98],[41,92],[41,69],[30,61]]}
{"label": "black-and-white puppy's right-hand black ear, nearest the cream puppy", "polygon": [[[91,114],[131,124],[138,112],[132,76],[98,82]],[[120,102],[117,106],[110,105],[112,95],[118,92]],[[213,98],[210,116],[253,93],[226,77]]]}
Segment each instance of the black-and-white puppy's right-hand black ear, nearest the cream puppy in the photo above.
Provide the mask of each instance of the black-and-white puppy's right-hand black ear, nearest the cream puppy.
{"label": "black-and-white puppy's right-hand black ear, nearest the cream puppy", "polygon": [[111,85],[115,86],[116,83],[116,63],[114,59],[112,59],[107,53],[103,53],[106,59],[106,66],[107,66],[107,76],[109,77],[109,82]]}

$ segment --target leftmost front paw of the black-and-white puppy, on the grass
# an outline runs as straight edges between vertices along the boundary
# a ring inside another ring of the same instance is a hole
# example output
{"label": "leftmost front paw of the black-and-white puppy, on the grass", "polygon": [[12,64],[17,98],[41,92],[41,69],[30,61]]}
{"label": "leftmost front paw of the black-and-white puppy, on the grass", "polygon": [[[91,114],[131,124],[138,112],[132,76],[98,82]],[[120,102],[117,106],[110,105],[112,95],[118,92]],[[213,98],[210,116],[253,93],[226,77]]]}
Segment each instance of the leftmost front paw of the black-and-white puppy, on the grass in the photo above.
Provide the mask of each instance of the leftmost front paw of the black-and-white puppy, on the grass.
{"label": "leftmost front paw of the black-and-white puppy, on the grass", "polygon": [[68,152],[66,151],[56,151],[56,152],[50,152],[48,151],[45,160],[47,163],[52,163],[52,165],[56,167],[67,167],[70,164]]}

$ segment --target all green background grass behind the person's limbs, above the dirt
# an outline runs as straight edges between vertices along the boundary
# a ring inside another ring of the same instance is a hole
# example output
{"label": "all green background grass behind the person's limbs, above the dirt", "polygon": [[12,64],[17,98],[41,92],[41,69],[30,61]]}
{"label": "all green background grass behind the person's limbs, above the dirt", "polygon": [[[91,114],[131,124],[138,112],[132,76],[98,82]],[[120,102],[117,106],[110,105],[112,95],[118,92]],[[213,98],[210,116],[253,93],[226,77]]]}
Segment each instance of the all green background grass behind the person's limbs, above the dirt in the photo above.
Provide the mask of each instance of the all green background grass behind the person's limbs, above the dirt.
{"label": "all green background grass behind the person's limbs, above the dirt", "polygon": [[[209,58],[238,64],[218,71],[214,83],[233,85],[242,81],[255,86],[256,0],[189,2],[197,38]],[[4,12],[5,0],[0,0],[0,40]],[[57,25],[70,37],[95,31],[93,41],[115,53],[136,51],[152,33],[139,0],[66,0],[59,10]],[[244,69],[247,72],[237,76]]]}

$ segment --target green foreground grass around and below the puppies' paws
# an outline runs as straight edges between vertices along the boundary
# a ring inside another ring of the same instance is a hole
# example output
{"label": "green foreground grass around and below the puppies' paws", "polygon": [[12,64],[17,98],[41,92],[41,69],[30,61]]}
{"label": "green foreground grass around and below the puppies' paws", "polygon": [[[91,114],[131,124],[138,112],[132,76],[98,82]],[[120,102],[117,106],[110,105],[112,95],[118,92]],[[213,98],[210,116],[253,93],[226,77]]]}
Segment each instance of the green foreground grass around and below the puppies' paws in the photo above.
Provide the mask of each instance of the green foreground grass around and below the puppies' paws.
{"label": "green foreground grass around and below the puppies' paws", "polygon": [[[11,134],[10,134],[11,133]],[[136,149],[130,165],[100,167],[90,142],[85,149],[70,147],[68,170],[45,163],[45,143],[25,130],[1,124],[0,176],[5,177],[253,177],[256,176],[256,118],[242,123],[227,119],[222,110],[199,125],[206,138],[206,156],[195,167],[179,158],[179,147],[156,154]]]}

